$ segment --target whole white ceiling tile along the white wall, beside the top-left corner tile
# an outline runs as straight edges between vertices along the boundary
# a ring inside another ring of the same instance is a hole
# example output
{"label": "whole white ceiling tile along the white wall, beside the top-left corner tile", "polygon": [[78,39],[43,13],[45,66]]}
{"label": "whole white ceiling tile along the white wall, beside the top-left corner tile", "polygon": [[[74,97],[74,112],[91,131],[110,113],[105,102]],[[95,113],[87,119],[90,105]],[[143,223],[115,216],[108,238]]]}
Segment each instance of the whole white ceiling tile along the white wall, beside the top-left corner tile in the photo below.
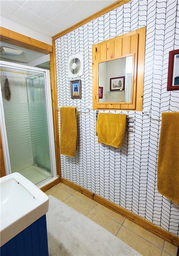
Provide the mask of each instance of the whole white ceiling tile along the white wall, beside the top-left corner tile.
{"label": "whole white ceiling tile along the white wall, beside the top-left corner tile", "polygon": [[28,12],[23,7],[19,8],[19,10],[11,17],[11,20],[35,30],[46,23],[44,19]]}

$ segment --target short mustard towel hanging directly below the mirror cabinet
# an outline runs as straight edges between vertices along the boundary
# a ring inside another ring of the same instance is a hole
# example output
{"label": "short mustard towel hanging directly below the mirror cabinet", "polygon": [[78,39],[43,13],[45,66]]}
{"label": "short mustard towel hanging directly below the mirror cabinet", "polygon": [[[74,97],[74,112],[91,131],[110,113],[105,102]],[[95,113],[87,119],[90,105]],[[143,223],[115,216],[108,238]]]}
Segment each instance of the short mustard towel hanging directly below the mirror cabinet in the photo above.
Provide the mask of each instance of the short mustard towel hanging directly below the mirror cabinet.
{"label": "short mustard towel hanging directly below the mirror cabinet", "polygon": [[96,123],[98,143],[122,148],[126,132],[126,117],[127,115],[124,114],[99,113]]}

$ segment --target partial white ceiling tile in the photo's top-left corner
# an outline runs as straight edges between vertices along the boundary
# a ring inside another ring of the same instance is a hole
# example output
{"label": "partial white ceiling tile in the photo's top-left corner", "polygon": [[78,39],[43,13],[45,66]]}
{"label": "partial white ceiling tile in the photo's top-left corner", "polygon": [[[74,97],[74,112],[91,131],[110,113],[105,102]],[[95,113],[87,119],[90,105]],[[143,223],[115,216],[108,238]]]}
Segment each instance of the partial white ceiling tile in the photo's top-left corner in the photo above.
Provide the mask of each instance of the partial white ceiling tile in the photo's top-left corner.
{"label": "partial white ceiling tile in the photo's top-left corner", "polygon": [[0,13],[6,18],[10,18],[19,9],[19,7],[19,5],[12,1],[0,1]]}

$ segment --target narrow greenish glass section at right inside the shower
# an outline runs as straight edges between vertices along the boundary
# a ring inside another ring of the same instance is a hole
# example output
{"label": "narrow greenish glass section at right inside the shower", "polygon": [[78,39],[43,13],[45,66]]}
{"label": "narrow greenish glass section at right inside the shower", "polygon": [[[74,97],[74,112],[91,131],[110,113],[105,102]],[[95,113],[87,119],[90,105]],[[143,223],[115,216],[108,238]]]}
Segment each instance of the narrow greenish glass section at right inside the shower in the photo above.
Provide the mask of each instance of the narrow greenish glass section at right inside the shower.
{"label": "narrow greenish glass section at right inside the shower", "polygon": [[[32,138],[34,164],[50,172],[50,157],[47,132],[47,117],[44,91],[44,75],[36,75],[26,78],[27,95],[29,102],[29,117],[31,129],[34,133]],[[39,142],[37,144],[37,142]],[[43,142],[40,143],[40,142]]]}

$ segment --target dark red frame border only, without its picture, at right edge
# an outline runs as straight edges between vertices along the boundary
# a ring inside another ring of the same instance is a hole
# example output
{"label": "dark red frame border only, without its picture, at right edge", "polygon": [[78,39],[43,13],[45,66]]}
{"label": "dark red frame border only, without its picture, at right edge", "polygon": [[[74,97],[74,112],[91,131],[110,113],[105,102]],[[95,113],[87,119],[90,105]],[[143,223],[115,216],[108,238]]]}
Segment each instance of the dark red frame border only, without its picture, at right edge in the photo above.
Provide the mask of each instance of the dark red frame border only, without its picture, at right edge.
{"label": "dark red frame border only, without its picture, at right edge", "polygon": [[173,84],[173,82],[175,81],[175,78],[173,79],[173,76],[175,75],[174,72],[175,72],[175,67],[176,67],[176,66],[174,66],[176,64],[176,61],[174,63],[174,60],[176,58],[179,59],[179,57],[177,57],[176,55],[179,55],[179,49],[169,52],[167,91],[179,90],[179,84],[178,85]]}

